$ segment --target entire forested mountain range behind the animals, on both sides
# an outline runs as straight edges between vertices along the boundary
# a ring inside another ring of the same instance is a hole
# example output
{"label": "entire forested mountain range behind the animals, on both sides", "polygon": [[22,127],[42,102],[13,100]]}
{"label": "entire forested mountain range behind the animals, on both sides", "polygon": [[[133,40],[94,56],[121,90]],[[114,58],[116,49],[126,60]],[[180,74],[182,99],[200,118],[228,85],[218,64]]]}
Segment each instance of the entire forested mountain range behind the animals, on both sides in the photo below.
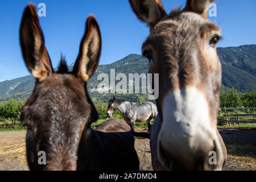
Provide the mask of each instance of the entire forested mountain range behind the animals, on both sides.
{"label": "entire forested mountain range behind the animals, on both sides", "polygon": [[[222,88],[235,88],[238,90],[250,91],[256,89],[256,45],[245,45],[239,47],[217,48],[218,56],[222,64]],[[73,64],[69,65],[72,70]],[[115,61],[112,64],[99,65],[96,73],[88,82],[88,91],[91,97],[98,100],[107,101],[110,97],[117,94],[99,94],[95,92],[100,73],[110,76],[110,69],[115,69],[115,76],[118,73],[125,73],[128,78],[129,73],[147,73],[148,60],[136,54],[130,54],[125,58]],[[119,82],[119,81],[116,81]],[[25,76],[0,82],[0,100],[10,98],[24,99],[30,96],[34,88],[34,78]],[[123,98],[137,100],[141,94],[125,94]]]}

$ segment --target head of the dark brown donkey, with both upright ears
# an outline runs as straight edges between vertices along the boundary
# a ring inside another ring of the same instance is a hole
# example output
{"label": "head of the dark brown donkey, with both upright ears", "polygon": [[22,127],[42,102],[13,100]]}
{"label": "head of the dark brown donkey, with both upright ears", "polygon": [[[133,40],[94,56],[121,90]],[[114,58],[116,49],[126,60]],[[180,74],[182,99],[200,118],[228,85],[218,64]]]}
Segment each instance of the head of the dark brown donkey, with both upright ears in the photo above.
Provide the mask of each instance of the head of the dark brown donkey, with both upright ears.
{"label": "head of the dark brown donkey, with both upright ears", "polygon": [[[36,78],[35,88],[22,109],[27,126],[27,160],[30,169],[75,170],[82,131],[97,120],[86,82],[96,71],[101,52],[101,34],[93,15],[86,30],[72,72],[61,58],[54,72],[40,28],[36,7],[28,5],[20,24],[23,59]],[[46,165],[39,165],[39,151],[46,154]]]}

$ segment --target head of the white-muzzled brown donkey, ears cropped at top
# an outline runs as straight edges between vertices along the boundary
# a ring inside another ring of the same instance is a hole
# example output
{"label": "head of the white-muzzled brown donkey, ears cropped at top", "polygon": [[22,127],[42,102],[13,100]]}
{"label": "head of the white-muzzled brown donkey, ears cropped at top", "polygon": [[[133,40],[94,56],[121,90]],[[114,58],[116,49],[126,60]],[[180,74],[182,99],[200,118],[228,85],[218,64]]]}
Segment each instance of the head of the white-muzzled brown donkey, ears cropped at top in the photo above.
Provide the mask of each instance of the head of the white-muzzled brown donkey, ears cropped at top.
{"label": "head of the white-muzzled brown donkey, ears cropped at top", "polygon": [[218,170],[225,163],[217,130],[221,63],[215,46],[221,31],[207,19],[212,2],[188,0],[183,10],[167,14],[160,0],[130,0],[150,27],[142,46],[149,73],[159,73],[159,116],[150,132],[156,170]]}

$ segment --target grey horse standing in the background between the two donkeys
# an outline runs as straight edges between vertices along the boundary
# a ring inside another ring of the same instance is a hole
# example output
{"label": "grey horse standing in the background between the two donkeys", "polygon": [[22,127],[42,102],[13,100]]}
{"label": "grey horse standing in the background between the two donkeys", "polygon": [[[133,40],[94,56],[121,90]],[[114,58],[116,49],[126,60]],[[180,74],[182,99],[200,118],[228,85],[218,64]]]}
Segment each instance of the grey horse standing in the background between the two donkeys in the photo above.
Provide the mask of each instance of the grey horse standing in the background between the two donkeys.
{"label": "grey horse standing in the background between the two donkeys", "polygon": [[112,117],[112,114],[117,109],[122,113],[123,119],[125,119],[125,122],[131,126],[133,131],[135,122],[146,121],[149,132],[151,128],[151,119],[155,119],[156,115],[158,115],[158,108],[152,102],[137,104],[113,97],[113,99],[109,100],[107,116]]}

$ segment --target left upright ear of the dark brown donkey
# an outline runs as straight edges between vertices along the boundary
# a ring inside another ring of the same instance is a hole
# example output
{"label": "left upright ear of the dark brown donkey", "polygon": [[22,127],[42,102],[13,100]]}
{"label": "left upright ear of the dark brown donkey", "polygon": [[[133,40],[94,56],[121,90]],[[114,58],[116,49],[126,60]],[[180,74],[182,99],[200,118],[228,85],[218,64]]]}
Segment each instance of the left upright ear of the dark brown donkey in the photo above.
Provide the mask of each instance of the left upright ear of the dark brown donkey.
{"label": "left upright ear of the dark brown donkey", "polygon": [[24,10],[19,30],[20,47],[26,67],[39,81],[53,72],[51,60],[40,27],[36,7],[32,3]]}

